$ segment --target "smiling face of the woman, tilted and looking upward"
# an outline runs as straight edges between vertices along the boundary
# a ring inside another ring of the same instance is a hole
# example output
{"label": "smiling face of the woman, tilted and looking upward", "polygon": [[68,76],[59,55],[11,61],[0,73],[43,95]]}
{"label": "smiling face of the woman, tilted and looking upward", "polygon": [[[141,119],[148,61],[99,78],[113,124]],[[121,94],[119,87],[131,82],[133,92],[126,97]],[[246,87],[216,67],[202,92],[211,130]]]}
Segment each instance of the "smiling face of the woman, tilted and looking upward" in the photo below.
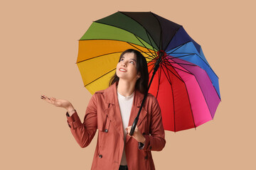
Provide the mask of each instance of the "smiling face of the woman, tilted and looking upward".
{"label": "smiling face of the woman, tilted and looking upward", "polygon": [[127,81],[137,81],[140,77],[137,74],[137,57],[133,52],[125,53],[120,62],[117,63],[117,77]]}

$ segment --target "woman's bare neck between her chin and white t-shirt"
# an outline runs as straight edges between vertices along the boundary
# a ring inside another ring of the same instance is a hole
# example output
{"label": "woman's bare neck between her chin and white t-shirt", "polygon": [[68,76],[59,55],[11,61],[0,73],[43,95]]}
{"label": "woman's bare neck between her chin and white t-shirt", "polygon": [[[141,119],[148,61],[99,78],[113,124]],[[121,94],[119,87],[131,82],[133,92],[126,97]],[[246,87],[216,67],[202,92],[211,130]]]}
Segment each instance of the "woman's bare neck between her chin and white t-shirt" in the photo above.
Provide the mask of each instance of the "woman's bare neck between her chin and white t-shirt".
{"label": "woman's bare neck between her chin and white t-shirt", "polygon": [[119,79],[117,91],[122,96],[131,96],[135,90],[136,82],[128,82],[122,79]]}

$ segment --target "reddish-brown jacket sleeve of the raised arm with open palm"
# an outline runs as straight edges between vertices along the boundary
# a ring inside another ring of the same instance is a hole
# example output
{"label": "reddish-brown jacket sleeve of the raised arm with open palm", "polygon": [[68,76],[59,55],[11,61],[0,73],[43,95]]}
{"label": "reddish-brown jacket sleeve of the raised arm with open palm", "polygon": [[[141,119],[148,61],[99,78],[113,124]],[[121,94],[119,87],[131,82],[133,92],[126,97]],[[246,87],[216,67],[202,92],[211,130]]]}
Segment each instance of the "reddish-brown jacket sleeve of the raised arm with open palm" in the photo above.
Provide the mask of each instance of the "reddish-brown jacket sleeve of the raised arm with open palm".
{"label": "reddish-brown jacket sleeve of the raised arm with open palm", "polygon": [[87,147],[90,145],[97,130],[97,98],[95,94],[88,103],[84,123],[81,123],[76,111],[70,117],[67,115],[67,118],[70,130],[80,147]]}

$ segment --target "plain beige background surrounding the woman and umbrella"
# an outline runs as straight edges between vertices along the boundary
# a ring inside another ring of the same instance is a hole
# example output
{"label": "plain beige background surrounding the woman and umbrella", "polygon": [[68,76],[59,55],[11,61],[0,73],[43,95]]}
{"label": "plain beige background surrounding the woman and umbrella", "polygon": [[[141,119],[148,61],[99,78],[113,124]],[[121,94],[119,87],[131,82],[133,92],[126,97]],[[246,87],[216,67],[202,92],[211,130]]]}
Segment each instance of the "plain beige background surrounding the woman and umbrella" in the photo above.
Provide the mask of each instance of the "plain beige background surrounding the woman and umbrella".
{"label": "plain beige background surrounding the woman and umbrella", "polygon": [[[83,119],[91,94],[77,65],[78,40],[116,11],[152,11],[183,25],[220,78],[215,118],[166,131],[156,169],[255,169],[255,4],[252,1],[1,1],[0,169],[90,169],[97,136],[80,148],[65,110]],[[97,134],[96,134],[97,135]]]}

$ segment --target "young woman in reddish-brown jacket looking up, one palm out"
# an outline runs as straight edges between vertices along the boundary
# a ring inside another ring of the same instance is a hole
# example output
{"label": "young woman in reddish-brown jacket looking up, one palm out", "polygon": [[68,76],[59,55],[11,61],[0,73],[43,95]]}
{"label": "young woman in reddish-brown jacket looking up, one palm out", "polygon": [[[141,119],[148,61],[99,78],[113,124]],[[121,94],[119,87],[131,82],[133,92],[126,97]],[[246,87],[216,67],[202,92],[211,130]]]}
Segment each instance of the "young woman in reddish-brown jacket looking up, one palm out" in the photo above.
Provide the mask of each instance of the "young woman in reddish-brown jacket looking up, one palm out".
{"label": "young woman in reddish-brown jacket looking up, one palm out", "polygon": [[91,169],[151,170],[155,169],[151,151],[161,151],[166,143],[161,110],[153,95],[146,97],[134,134],[129,135],[148,83],[146,59],[129,49],[122,52],[110,86],[92,95],[83,123],[69,101],[41,98],[67,109],[68,125],[80,147],[87,147],[98,130]]}

